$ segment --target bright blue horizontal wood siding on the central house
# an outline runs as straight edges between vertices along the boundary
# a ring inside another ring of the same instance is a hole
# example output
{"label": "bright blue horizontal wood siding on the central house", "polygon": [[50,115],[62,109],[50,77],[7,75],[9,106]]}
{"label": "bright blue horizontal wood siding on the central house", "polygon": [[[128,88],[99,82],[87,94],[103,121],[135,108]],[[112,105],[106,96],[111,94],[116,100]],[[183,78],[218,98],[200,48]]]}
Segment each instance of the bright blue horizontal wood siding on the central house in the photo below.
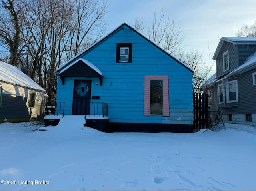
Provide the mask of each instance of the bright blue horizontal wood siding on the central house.
{"label": "bright blue horizontal wood siding on the central house", "polygon": [[[116,63],[117,43],[132,43],[132,63]],[[108,103],[110,122],[193,124],[192,72],[126,26],[79,58],[104,76],[102,86],[98,78],[85,79],[92,79],[91,96],[100,96],[91,101]],[[169,117],[144,116],[145,75],[169,76]],[[74,79],[66,77],[62,85],[58,77],[57,101],[65,101],[69,115]]]}

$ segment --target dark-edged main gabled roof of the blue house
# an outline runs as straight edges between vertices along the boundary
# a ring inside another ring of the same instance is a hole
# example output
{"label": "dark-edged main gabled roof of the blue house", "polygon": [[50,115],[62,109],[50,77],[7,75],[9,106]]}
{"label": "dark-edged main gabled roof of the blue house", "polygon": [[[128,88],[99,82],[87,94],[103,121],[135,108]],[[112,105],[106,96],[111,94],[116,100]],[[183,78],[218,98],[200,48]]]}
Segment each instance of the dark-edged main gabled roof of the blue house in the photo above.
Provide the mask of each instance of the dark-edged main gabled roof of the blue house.
{"label": "dark-edged main gabled roof of the blue house", "polygon": [[151,44],[153,44],[154,46],[156,46],[157,48],[159,48],[160,50],[162,50],[165,54],[167,54],[168,56],[170,56],[171,58],[173,58],[174,60],[176,60],[178,63],[182,64],[185,68],[187,68],[188,70],[190,70],[191,72],[193,72],[192,68],[190,68],[189,66],[187,66],[186,64],[184,64],[183,62],[181,62],[180,60],[178,60],[177,58],[175,58],[173,55],[171,55],[170,53],[168,53],[166,50],[162,49],[160,46],[156,45],[154,42],[152,42],[151,40],[149,40],[148,38],[146,38],[145,36],[143,36],[142,34],[140,34],[137,30],[135,30],[134,28],[132,28],[131,26],[129,26],[126,23],[121,24],[120,26],[118,26],[116,29],[114,29],[112,32],[110,32],[108,35],[106,35],[104,38],[102,38],[101,40],[99,40],[98,42],[92,44],[90,47],[86,48],[83,52],[81,52],[80,54],[74,56],[73,58],[71,58],[70,60],[68,60],[68,62],[64,63],[62,66],[60,66],[59,68],[57,68],[57,70],[55,71],[57,74],[59,74],[59,71],[68,66],[72,61],[74,61],[76,58],[79,58],[80,56],[82,56],[83,54],[86,54],[86,52],[88,52],[89,50],[91,50],[92,48],[94,48],[95,46],[97,46],[97,44],[103,42],[104,40],[106,40],[108,37],[112,36],[116,31],[122,29],[123,26],[127,26],[128,28],[130,28],[131,30],[133,30],[134,32],[136,32],[137,34],[139,34],[140,36],[142,36],[142,38],[146,39],[148,42],[150,42]]}

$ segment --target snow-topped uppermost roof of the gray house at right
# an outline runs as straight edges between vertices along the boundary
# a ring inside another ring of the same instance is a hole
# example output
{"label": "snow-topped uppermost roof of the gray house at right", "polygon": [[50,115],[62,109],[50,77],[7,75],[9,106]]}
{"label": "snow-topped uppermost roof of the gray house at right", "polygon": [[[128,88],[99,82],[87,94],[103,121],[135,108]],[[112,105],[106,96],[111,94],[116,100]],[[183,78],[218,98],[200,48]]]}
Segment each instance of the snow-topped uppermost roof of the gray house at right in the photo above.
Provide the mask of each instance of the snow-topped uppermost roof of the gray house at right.
{"label": "snow-topped uppermost roof of the gray house at right", "polygon": [[213,60],[217,59],[218,54],[220,53],[220,49],[222,48],[222,45],[224,44],[225,41],[230,42],[234,45],[249,45],[249,44],[256,45],[256,37],[222,37],[212,57]]}

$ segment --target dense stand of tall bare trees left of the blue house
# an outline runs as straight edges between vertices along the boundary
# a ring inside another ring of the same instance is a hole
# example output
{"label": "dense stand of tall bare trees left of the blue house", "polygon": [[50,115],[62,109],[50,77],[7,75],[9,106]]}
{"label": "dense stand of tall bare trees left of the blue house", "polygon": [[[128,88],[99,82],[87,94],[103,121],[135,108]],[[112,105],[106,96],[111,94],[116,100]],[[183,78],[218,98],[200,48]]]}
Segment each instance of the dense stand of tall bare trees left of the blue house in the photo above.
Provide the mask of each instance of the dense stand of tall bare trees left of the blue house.
{"label": "dense stand of tall bare trees left of the blue house", "polygon": [[[106,32],[100,0],[0,0],[0,45],[54,101],[55,70]],[[1,55],[4,58],[3,55]],[[17,65],[17,64],[16,64]]]}

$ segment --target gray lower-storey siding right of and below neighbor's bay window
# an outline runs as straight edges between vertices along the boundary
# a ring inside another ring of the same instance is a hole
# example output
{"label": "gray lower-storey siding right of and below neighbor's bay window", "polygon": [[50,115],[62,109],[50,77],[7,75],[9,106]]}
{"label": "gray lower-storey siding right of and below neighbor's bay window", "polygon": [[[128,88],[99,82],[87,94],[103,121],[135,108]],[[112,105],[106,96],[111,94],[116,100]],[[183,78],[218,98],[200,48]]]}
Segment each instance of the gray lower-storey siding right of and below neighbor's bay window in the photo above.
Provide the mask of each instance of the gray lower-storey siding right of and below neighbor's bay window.
{"label": "gray lower-storey siding right of and below neighbor's bay window", "polygon": [[[252,73],[256,69],[238,77],[238,106],[223,107],[224,114],[251,114],[256,113],[256,86],[252,85]],[[228,106],[226,104],[226,106]]]}

